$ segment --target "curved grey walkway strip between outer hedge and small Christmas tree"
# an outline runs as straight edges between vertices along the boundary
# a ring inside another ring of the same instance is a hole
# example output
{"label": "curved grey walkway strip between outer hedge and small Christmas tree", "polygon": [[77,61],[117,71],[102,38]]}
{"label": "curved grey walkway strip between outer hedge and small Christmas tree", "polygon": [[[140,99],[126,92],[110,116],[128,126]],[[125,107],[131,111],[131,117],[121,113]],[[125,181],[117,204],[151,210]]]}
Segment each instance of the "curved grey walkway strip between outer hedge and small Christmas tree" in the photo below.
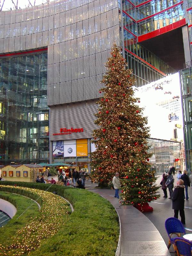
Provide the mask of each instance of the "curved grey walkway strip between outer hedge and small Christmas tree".
{"label": "curved grey walkway strip between outer hedge and small Christmas tree", "polygon": [[120,235],[116,256],[170,256],[167,246],[154,224],[132,205],[120,205],[109,189],[95,189],[116,209],[120,220]]}

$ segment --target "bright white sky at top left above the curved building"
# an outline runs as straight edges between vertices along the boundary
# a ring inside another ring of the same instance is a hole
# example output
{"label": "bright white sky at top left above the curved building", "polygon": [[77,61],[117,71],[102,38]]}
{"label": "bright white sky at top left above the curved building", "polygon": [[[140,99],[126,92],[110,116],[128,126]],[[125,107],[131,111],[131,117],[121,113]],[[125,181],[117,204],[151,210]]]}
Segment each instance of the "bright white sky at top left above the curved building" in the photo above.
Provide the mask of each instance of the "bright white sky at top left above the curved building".
{"label": "bright white sky at top left above the curved building", "polygon": [[[13,0],[15,3],[17,2],[17,0]],[[53,0],[50,0],[50,2],[52,2]],[[34,5],[34,0],[30,0],[31,4]],[[35,5],[38,4],[42,4],[42,3],[46,3],[46,0],[36,0]],[[1,4],[3,4],[3,0],[1,0]],[[26,6],[28,6],[29,2],[28,0],[18,0],[18,9],[19,7],[22,8],[26,8]],[[14,5],[12,4],[11,0],[5,0],[4,5],[3,5],[3,11],[7,11],[10,10],[10,7],[12,8],[12,10],[14,10]]]}

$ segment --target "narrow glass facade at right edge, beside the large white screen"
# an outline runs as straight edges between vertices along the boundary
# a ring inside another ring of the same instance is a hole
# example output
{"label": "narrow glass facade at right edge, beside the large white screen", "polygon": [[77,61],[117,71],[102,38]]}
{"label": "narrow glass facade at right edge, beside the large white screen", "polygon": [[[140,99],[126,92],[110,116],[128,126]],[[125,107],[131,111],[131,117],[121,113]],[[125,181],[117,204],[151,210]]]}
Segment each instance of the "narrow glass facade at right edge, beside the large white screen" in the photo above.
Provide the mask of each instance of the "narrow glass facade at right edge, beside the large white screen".
{"label": "narrow glass facade at right edge, beside the large white screen", "polygon": [[180,71],[186,168],[192,171],[192,68]]}

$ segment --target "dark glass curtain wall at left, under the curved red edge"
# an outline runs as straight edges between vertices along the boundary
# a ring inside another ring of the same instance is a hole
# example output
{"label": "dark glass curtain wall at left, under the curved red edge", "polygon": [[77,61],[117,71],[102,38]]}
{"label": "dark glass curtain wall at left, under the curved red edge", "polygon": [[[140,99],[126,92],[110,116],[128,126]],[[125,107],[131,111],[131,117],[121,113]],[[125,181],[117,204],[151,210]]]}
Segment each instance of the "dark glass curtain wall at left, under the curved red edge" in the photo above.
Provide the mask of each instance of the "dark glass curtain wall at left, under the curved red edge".
{"label": "dark glass curtain wall at left, under the curved red edge", "polygon": [[0,59],[0,162],[49,159],[47,53]]}

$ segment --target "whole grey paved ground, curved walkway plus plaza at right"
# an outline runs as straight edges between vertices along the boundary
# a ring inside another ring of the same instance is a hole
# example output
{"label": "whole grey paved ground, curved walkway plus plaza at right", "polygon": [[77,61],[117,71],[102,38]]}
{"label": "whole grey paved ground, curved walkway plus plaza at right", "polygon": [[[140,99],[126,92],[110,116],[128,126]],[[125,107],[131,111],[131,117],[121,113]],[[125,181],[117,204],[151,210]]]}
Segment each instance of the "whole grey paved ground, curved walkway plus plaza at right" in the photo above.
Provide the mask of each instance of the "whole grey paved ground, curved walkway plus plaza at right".
{"label": "whole grey paved ground, curved walkway plus plaza at right", "polygon": [[[176,184],[176,175],[174,179],[174,184]],[[160,181],[161,176],[157,178],[156,184],[159,185]],[[154,209],[153,212],[143,214],[131,205],[121,205],[119,200],[114,197],[114,190],[95,188],[96,186],[97,184],[92,184],[89,180],[86,180],[86,189],[106,198],[115,207],[119,215],[121,234],[117,256],[174,255],[167,250],[168,236],[164,228],[165,220],[174,216],[174,210],[172,210],[172,200],[163,198],[164,194],[161,188],[158,190],[161,197],[149,203]],[[189,200],[185,200],[187,234],[192,233],[192,202],[190,201],[192,189],[190,187],[188,188],[188,194]],[[172,248],[170,251],[172,251]]]}

